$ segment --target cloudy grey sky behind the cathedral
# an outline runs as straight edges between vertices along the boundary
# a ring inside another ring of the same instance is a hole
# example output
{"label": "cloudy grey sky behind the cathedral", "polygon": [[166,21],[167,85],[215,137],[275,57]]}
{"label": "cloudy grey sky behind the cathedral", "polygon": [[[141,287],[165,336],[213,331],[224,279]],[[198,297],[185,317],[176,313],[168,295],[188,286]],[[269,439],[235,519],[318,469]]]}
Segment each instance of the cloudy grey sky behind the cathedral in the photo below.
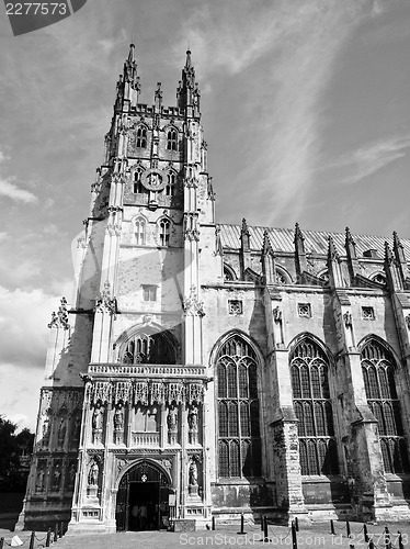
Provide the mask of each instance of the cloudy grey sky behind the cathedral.
{"label": "cloudy grey sky behind the cathedral", "polygon": [[[408,0],[88,0],[14,37],[0,5],[0,414],[35,427],[115,85],[141,102],[190,46],[217,221],[410,238]],[[410,258],[409,258],[410,259]]]}

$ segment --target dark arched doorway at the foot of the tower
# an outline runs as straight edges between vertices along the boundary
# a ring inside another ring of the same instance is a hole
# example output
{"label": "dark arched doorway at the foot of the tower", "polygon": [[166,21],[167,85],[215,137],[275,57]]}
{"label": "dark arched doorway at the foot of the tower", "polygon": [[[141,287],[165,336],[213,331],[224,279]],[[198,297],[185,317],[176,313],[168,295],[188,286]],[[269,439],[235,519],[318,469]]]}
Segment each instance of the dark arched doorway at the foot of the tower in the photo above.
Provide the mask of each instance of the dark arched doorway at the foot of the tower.
{"label": "dark arched doorway at the foot of the tower", "polygon": [[119,481],[115,519],[117,530],[158,530],[170,519],[168,474],[149,461],[140,461]]}

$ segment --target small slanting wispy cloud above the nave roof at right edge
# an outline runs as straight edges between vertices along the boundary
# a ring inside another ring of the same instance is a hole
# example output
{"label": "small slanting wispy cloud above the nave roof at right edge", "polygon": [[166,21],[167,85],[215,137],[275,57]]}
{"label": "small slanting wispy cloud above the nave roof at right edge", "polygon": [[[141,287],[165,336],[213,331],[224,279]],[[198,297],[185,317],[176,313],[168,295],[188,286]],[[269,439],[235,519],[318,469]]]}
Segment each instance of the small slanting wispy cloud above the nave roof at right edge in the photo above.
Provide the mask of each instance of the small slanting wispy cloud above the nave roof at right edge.
{"label": "small slanting wispy cloud above the nave roof at right edge", "polygon": [[409,147],[410,136],[379,139],[341,156],[321,170],[331,170],[333,184],[354,184],[406,156]]}

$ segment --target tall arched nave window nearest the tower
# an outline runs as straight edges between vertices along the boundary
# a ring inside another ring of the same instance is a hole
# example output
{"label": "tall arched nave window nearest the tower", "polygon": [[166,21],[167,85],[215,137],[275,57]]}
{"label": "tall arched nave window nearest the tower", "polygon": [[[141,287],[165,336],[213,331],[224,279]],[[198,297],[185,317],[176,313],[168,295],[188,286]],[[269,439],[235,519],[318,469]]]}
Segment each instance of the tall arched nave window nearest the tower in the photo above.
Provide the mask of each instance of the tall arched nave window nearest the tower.
{"label": "tall arched nave window nearest the tower", "polygon": [[231,336],[217,355],[219,477],[260,477],[261,438],[257,356]]}

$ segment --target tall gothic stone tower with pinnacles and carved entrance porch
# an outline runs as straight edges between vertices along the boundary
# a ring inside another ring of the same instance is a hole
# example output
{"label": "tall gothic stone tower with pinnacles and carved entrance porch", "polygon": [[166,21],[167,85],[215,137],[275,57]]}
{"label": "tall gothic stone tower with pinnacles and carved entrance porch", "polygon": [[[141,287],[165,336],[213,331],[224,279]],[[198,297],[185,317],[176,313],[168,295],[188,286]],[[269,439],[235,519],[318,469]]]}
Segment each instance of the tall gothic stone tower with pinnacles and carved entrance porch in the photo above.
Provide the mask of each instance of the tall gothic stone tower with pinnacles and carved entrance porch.
{"label": "tall gothic stone tower with pinnacles and carved entrance porch", "polygon": [[215,197],[191,52],[176,107],[162,104],[160,82],[151,107],[139,92],[132,44],[73,296],[49,324],[21,524],[132,528],[143,505],[150,527],[209,516],[200,242],[210,231],[215,245]]}

